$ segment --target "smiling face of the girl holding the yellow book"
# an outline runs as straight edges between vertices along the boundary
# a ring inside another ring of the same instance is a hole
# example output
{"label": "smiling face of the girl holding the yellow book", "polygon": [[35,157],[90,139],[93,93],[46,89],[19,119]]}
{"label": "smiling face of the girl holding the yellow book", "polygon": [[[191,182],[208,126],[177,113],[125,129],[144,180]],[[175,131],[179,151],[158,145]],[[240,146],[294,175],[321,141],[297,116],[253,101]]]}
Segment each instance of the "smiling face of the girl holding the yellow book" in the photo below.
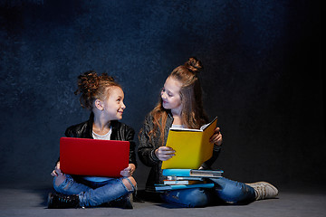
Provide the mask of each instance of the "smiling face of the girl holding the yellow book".
{"label": "smiling face of the girl holding the yellow book", "polygon": [[168,77],[161,90],[161,99],[164,109],[171,109],[172,114],[181,114],[182,103],[180,97],[181,82]]}

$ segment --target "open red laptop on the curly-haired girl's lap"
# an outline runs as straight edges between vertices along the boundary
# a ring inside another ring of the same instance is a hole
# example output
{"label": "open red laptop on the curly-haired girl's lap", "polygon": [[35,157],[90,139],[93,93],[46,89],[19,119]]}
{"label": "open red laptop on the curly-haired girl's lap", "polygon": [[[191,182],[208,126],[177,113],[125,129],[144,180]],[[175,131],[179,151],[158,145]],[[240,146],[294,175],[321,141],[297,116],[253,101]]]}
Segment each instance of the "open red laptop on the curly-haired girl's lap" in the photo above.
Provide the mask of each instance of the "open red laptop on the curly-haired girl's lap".
{"label": "open red laptop on the curly-haired girl's lap", "polygon": [[120,177],[129,165],[129,142],[60,138],[60,168],[69,175]]}

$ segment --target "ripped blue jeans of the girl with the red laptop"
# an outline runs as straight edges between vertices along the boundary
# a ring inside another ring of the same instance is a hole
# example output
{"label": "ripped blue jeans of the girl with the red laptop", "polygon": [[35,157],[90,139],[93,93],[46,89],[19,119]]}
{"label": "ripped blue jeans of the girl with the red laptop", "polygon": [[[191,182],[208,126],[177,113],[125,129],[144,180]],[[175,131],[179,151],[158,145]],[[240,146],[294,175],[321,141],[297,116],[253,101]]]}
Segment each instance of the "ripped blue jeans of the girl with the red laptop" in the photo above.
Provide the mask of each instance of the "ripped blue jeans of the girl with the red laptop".
{"label": "ripped blue jeans of the girl with the red laptop", "polygon": [[[59,186],[55,184],[55,179],[56,177],[53,178],[55,191],[65,195],[78,194],[82,207],[98,206],[102,203],[108,203],[134,191],[129,190],[122,183],[122,178],[112,178],[109,181],[101,183],[90,181],[78,183],[71,175],[66,175],[65,180]],[[131,184],[131,186],[133,185]],[[135,189],[134,186],[133,189]]]}

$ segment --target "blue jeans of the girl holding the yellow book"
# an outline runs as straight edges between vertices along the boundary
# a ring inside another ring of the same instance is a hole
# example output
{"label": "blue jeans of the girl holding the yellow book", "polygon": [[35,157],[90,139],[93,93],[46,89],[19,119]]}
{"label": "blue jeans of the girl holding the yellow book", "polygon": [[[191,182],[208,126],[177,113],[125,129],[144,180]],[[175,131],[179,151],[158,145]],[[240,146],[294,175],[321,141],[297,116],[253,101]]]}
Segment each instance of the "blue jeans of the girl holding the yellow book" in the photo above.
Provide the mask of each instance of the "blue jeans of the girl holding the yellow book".
{"label": "blue jeans of the girl holding the yellow book", "polygon": [[251,203],[255,200],[254,188],[244,183],[235,182],[225,177],[211,178],[215,187],[189,188],[168,191],[162,199],[184,207],[203,207],[212,203]]}

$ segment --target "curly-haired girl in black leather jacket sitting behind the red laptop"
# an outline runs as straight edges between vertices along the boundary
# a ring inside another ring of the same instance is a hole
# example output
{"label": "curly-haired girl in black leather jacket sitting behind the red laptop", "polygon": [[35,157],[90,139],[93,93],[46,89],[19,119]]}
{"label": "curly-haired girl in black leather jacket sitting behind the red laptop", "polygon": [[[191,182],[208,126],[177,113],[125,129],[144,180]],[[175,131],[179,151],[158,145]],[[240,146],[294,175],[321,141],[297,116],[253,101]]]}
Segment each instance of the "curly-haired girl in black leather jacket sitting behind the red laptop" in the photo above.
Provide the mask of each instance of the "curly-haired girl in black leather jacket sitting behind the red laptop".
{"label": "curly-haired girl in black leather jacket sitting behind the red laptop", "polygon": [[81,105],[91,111],[89,120],[68,127],[66,137],[129,141],[129,166],[120,172],[121,178],[90,177],[62,174],[60,161],[53,170],[53,187],[48,208],[91,207],[102,204],[132,209],[132,193],[136,181],[134,130],[121,123],[124,93],[120,85],[107,74],[87,71],[78,77]]}

